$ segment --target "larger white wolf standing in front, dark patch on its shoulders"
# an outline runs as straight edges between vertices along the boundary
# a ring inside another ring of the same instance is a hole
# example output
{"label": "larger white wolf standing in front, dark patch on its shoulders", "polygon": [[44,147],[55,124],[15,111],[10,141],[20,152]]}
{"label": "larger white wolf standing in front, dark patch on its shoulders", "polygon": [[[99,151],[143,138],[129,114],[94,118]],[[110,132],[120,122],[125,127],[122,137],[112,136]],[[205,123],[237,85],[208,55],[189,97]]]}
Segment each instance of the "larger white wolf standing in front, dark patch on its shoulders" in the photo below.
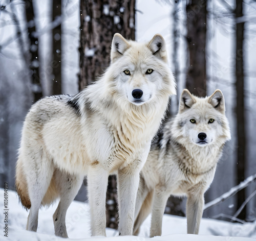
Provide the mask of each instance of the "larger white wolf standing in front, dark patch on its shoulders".
{"label": "larger white wolf standing in front, dark patch on its shoulders", "polygon": [[87,175],[92,235],[105,235],[108,176],[117,174],[119,232],[132,235],[139,173],[175,93],[161,35],[138,43],[115,34],[111,64],[98,81],[34,104],[16,166],[16,189],[30,208],[27,229],[36,231],[41,205],[60,198],[55,234],[68,237],[66,211]]}

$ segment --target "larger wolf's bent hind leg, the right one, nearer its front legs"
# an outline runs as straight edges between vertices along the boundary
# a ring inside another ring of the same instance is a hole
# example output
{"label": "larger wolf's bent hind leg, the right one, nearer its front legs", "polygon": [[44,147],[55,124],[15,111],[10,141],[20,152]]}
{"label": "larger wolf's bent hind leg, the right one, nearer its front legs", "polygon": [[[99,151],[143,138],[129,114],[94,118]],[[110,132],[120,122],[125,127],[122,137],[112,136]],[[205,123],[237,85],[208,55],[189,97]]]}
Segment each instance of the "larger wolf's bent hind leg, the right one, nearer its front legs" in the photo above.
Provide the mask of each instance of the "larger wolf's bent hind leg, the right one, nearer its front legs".
{"label": "larger wolf's bent hind leg, the right one, nearer its front legs", "polygon": [[66,213],[68,207],[74,200],[79,188],[81,187],[83,176],[71,175],[66,172],[56,171],[54,173],[56,187],[60,194],[60,201],[53,214],[55,235],[68,237],[66,229]]}

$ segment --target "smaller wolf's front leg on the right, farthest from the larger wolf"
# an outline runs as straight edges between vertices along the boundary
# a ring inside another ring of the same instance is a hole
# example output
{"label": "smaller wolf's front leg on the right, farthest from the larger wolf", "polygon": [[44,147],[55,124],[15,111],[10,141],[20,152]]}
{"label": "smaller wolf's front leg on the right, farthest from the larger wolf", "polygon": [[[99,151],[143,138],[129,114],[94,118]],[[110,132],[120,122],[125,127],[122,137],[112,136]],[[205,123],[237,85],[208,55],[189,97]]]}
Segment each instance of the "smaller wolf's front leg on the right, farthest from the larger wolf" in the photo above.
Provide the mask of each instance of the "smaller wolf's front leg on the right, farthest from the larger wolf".
{"label": "smaller wolf's front leg on the right, farthest from the larger wolf", "polygon": [[203,215],[204,193],[190,192],[187,195],[187,233],[198,234]]}

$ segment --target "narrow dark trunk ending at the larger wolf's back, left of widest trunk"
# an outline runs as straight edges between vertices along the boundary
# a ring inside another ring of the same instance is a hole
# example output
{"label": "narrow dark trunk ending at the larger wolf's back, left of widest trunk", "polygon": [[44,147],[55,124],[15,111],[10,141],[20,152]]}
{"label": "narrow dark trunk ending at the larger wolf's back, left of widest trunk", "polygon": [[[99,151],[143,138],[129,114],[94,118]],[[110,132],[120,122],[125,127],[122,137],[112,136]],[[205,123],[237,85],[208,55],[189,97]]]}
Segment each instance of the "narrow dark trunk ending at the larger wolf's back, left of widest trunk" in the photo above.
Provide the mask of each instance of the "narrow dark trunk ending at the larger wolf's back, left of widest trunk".
{"label": "narrow dark trunk ending at the larger wolf's back, left of widest trunk", "polygon": [[[61,18],[61,0],[52,1],[52,20]],[[61,94],[61,24],[52,30],[52,90]]]}

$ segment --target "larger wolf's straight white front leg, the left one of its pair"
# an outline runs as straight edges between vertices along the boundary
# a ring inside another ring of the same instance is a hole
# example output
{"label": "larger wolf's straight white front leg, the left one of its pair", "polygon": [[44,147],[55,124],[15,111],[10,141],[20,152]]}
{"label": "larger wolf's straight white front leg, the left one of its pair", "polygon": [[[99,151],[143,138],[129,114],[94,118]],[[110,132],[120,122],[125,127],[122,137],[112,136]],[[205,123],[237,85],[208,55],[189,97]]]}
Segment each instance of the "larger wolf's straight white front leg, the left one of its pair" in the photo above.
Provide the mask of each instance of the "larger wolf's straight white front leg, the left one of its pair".
{"label": "larger wolf's straight white front leg, the left one of its pair", "polygon": [[88,198],[91,211],[92,236],[106,236],[106,188],[108,187],[109,173],[99,164],[89,168]]}

